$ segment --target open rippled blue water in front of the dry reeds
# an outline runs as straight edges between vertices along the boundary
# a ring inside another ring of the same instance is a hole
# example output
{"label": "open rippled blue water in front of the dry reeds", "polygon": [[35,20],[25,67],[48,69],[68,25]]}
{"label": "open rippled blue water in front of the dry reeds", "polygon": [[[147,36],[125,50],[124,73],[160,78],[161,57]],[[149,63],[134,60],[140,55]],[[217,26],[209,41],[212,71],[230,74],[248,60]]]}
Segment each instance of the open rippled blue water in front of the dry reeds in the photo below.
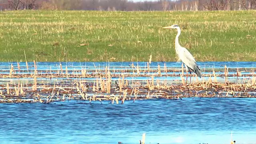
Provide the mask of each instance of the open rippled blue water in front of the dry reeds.
{"label": "open rippled blue water in front of the dry reeds", "polygon": [[256,99],[0,104],[1,144],[256,143]]}

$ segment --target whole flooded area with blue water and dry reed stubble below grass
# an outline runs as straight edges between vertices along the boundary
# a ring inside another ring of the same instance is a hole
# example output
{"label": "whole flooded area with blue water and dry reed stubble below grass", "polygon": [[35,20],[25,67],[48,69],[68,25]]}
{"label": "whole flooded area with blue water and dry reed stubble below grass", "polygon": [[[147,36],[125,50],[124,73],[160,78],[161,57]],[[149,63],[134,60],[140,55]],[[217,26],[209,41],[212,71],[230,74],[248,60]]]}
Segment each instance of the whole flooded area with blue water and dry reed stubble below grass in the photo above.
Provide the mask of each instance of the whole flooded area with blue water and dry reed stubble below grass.
{"label": "whole flooded area with blue water and dry reed stubble below grass", "polygon": [[255,144],[255,64],[198,64],[0,63],[0,143]]}

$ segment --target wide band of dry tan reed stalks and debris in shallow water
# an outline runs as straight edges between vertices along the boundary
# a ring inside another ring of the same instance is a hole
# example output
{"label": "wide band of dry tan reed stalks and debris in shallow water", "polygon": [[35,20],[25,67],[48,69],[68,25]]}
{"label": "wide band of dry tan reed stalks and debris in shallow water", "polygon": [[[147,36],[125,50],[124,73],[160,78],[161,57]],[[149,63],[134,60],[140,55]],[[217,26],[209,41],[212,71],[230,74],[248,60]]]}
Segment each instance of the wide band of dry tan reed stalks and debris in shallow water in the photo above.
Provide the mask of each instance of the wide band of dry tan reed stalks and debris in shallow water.
{"label": "wide band of dry tan reed stalks and debris in shallow water", "polygon": [[[108,100],[123,104],[126,100],[204,98],[255,98],[256,77],[254,69],[230,68],[202,69],[202,78],[195,74],[186,84],[186,74],[180,68],[160,65],[144,68],[84,67],[81,70],[58,65],[58,70],[38,70],[31,66],[13,66],[9,72],[1,70],[0,102],[58,102]],[[189,78],[188,78],[189,80]]]}

